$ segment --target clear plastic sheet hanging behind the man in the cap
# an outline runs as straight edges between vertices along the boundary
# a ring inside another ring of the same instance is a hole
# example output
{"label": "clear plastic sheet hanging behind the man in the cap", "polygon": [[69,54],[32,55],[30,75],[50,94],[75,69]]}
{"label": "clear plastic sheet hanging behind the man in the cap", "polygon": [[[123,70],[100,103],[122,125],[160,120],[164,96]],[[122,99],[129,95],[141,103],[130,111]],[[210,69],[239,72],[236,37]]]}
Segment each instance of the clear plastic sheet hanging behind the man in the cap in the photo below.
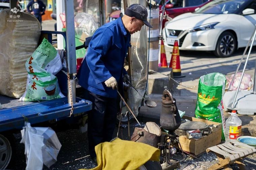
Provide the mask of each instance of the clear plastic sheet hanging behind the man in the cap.
{"label": "clear plastic sheet hanging behind the man in the cap", "polygon": [[[143,0],[129,0],[128,6],[131,4],[141,4],[146,6],[146,1]],[[121,10],[124,13],[124,10]],[[148,91],[146,90],[147,78],[148,78],[148,38],[147,38],[147,26],[142,26],[141,30],[131,35],[131,53],[130,57],[132,60],[131,65],[131,84],[137,89],[137,91],[145,99],[149,99]],[[128,89],[128,105],[131,107],[135,116],[138,115],[138,108],[143,106],[142,97],[132,88]],[[125,110],[125,109],[124,109]],[[128,110],[128,109],[127,109]],[[123,110],[122,110],[123,112]],[[125,113],[125,112],[123,112]]]}

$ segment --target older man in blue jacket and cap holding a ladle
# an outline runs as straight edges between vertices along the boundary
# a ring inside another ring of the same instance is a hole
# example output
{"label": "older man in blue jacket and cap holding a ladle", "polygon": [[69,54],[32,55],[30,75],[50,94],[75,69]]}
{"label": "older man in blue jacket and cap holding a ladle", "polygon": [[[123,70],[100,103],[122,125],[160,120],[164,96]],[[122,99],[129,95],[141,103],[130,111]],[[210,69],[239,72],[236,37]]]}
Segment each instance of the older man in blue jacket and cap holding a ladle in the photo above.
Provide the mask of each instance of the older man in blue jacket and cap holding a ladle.
{"label": "older man in blue jacket and cap holding a ladle", "polygon": [[147,9],[140,4],[129,6],[123,17],[101,26],[94,33],[86,57],[79,69],[79,84],[86,91],[86,99],[93,108],[88,113],[88,140],[91,157],[94,147],[110,141],[117,117],[117,90],[123,91],[124,59],[130,45],[131,34],[140,31],[147,21]]}

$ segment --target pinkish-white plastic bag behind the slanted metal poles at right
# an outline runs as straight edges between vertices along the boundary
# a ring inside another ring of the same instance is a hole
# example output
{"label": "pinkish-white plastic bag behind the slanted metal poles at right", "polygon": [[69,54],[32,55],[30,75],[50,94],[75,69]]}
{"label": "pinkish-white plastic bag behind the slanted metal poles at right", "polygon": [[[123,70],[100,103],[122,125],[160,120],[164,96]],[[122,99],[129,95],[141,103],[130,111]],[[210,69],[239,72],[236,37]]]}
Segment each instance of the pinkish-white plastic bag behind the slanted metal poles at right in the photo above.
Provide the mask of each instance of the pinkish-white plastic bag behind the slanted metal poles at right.
{"label": "pinkish-white plastic bag behind the slanted metal poles at right", "polygon": [[[233,83],[231,84],[231,87],[230,87],[230,91],[233,91],[233,90],[237,89],[239,81],[241,79],[241,75],[242,75],[241,72],[238,72],[235,75],[234,81],[233,81]],[[232,74],[230,76],[230,78],[227,78],[228,87],[230,86],[230,83],[231,83],[233,77],[234,77],[234,74]],[[253,87],[252,77],[251,77],[250,74],[245,73],[244,76],[243,76],[243,79],[242,79],[239,90],[250,90],[250,89],[252,89],[252,87]]]}

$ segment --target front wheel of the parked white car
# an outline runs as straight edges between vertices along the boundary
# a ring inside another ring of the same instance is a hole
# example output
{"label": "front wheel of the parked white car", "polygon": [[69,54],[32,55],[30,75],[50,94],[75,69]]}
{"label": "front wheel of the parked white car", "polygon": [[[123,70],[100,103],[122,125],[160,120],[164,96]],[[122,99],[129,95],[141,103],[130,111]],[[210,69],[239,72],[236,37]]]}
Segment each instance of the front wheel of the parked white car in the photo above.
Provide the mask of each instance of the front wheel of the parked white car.
{"label": "front wheel of the parked white car", "polygon": [[230,57],[236,49],[235,36],[230,32],[224,32],[220,35],[214,54],[218,57]]}

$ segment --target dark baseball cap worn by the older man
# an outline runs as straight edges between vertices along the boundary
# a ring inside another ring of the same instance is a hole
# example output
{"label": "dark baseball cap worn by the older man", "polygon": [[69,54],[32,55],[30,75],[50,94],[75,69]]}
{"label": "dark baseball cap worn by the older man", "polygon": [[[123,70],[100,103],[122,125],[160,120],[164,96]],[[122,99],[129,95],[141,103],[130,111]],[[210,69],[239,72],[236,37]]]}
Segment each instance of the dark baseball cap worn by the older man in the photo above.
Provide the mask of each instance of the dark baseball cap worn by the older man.
{"label": "dark baseball cap worn by the older man", "polygon": [[153,26],[148,22],[148,10],[140,4],[130,5],[124,12],[125,15],[142,20],[148,27]]}

